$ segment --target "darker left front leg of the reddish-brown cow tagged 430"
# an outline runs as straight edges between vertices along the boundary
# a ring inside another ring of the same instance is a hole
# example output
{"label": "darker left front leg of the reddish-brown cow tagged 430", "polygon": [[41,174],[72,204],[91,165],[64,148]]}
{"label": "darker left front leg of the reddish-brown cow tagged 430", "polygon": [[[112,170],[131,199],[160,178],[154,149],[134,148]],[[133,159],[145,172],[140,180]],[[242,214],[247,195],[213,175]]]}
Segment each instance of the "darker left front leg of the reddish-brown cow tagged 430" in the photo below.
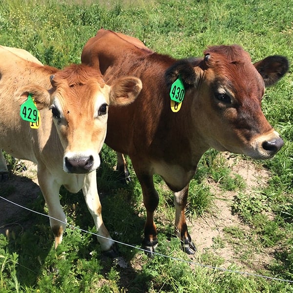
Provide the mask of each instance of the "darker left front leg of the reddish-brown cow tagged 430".
{"label": "darker left front leg of the reddish-brown cow tagged 430", "polygon": [[[143,240],[143,246],[146,251],[149,251],[148,255],[152,256],[152,252],[158,245],[157,228],[154,222],[154,211],[159,204],[159,195],[154,187],[153,174],[147,172],[147,167],[136,167],[136,161],[131,158],[132,165],[134,167],[137,178],[140,182],[143,191],[144,205],[146,207],[146,224],[145,224],[145,238]],[[138,160],[139,166],[143,166]]]}

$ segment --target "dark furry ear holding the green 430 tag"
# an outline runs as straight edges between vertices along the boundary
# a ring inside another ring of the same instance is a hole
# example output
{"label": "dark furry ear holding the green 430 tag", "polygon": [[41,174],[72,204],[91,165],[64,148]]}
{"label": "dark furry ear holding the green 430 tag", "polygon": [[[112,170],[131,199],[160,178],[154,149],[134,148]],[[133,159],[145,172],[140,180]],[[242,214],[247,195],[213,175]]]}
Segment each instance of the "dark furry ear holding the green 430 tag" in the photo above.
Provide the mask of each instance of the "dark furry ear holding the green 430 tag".
{"label": "dark furry ear holding the green 430 tag", "polygon": [[197,66],[193,67],[192,62],[190,62],[188,59],[180,60],[174,63],[165,72],[167,87],[170,88],[179,77],[182,80],[186,90],[191,87],[195,87],[198,84],[200,78],[199,71],[202,71],[202,69]]}

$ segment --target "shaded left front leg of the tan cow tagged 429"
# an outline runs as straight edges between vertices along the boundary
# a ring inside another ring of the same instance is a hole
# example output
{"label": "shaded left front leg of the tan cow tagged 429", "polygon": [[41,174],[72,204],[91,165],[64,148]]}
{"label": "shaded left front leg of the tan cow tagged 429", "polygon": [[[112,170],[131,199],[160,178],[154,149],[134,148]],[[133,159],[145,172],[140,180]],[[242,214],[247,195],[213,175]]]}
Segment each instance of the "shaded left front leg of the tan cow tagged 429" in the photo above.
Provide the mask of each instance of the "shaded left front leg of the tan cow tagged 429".
{"label": "shaded left front leg of the tan cow tagged 429", "polygon": [[[55,249],[62,242],[66,228],[66,216],[60,204],[59,190],[61,185],[56,182],[46,167],[38,165],[38,180],[43,197],[48,206],[50,227],[55,236]],[[60,221],[58,221],[60,220]]]}

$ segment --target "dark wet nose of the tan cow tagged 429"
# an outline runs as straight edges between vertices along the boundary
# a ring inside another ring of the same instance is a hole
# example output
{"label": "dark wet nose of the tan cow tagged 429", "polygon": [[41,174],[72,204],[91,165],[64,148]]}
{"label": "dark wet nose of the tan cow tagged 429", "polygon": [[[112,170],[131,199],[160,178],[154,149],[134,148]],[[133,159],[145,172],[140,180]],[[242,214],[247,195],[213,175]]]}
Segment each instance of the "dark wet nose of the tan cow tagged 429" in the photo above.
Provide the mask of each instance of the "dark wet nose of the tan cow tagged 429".
{"label": "dark wet nose of the tan cow tagged 429", "polygon": [[68,158],[65,157],[65,167],[68,173],[84,174],[92,171],[94,165],[93,156]]}

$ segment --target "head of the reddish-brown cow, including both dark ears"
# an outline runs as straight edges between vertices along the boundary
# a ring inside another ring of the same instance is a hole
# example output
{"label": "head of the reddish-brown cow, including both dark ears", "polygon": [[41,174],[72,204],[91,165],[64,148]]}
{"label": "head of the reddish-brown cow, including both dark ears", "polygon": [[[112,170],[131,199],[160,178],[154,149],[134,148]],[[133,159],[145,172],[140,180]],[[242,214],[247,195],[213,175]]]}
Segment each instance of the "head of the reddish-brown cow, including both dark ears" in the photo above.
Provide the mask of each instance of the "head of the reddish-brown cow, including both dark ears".
{"label": "head of the reddish-brown cow, including both dark ears", "polygon": [[168,84],[179,75],[183,80],[182,109],[188,105],[194,123],[190,129],[198,136],[193,141],[254,159],[272,158],[283,140],[266,120],[261,100],[265,86],[287,72],[287,59],[270,56],[252,64],[237,45],[210,47],[204,54],[203,59],[174,64],[166,74]]}

